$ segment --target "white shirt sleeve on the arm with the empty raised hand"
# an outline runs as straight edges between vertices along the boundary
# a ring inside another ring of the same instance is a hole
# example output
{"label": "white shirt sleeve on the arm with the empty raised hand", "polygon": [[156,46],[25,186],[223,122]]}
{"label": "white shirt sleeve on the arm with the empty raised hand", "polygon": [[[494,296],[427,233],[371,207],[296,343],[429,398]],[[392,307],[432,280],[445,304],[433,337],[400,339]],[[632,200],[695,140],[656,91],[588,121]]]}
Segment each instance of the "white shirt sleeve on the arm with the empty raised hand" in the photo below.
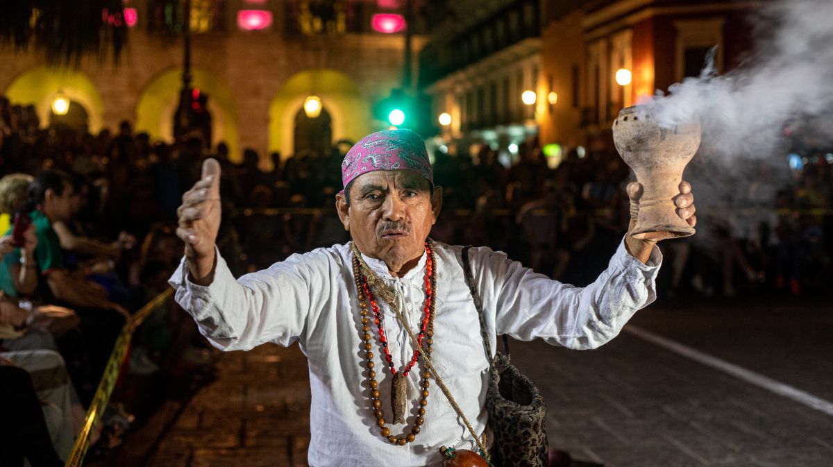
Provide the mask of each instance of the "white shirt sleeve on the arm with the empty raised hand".
{"label": "white shirt sleeve on the arm with the empty raised hand", "polygon": [[328,269],[327,255],[292,255],[235,280],[220,252],[216,254],[211,285],[198,286],[188,279],[184,257],[168,280],[176,289],[177,303],[197,321],[202,335],[222,350],[249,350],[269,341],[303,344],[307,316],[329,293],[329,281],[322,274]]}

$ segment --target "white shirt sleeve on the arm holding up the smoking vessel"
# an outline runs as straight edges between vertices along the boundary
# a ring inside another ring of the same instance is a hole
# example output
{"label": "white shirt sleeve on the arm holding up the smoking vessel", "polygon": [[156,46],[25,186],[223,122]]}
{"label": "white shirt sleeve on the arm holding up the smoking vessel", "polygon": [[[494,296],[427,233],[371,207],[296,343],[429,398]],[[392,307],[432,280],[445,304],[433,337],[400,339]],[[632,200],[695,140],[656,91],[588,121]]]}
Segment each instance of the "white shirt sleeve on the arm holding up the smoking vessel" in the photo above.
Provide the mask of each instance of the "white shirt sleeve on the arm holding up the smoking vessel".
{"label": "white shirt sleeve on the arm holding up the smoking vessel", "polygon": [[496,334],[581,350],[616,337],[636,311],[656,300],[662,255],[655,246],[642,264],[623,240],[607,269],[586,287],[553,281],[489,249],[472,251],[471,261],[486,292],[484,306],[493,307],[486,313],[495,315]]}

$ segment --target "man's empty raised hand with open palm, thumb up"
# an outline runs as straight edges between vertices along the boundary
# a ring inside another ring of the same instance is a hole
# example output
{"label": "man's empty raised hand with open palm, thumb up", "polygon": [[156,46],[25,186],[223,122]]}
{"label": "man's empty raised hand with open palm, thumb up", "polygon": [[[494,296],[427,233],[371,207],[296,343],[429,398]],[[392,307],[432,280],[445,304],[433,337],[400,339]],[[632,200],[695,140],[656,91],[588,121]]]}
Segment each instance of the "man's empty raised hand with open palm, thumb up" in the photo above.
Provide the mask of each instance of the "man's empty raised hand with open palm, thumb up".
{"label": "man's empty raised hand with open palm, thumb up", "polygon": [[202,162],[202,178],[182,195],[182,206],[177,210],[177,236],[185,242],[190,279],[195,284],[207,286],[214,279],[214,245],[221,213],[220,163],[206,159]]}

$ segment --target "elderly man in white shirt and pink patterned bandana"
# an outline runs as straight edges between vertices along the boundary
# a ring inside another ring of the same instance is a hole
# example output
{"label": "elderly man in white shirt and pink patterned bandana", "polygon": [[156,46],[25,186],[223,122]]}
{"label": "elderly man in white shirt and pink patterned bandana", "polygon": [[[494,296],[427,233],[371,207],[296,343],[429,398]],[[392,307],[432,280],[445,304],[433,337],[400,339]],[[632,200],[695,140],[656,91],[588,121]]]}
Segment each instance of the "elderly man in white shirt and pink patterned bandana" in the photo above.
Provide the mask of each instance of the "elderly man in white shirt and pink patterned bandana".
{"label": "elderly man in white shirt and pink patterned bandana", "polygon": [[[352,242],[293,255],[237,280],[214,245],[219,170],[207,160],[202,180],[182,197],[177,235],[186,251],[170,283],[202,334],[222,350],[301,345],[312,385],[310,465],[439,465],[437,448],[471,440],[428,382],[391,303],[419,333],[462,414],[477,433],[486,430],[489,361],[464,281],[462,247],[428,239],[442,191],[433,185],[421,137],[377,132],[347,152],[336,208]],[[636,218],[640,187],[629,186],[629,194]],[[692,201],[684,182],[676,206],[691,226]],[[571,349],[605,343],[655,299],[661,263],[655,242],[626,236],[606,271],[581,288],[486,247],[469,255],[491,349],[501,334]],[[388,397],[392,386],[404,400]]]}

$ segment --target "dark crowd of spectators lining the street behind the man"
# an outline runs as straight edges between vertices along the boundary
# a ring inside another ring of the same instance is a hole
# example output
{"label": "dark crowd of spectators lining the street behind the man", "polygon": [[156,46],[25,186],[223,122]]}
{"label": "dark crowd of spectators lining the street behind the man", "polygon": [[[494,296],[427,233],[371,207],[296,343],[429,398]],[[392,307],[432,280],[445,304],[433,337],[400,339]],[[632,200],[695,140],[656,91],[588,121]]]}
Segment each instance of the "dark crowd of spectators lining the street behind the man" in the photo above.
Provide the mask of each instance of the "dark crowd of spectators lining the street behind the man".
{"label": "dark crowd of spectators lining the street behind the man", "polygon": [[[37,467],[66,458],[119,330],[166,290],[180,261],[177,207],[205,157],[222,165],[218,246],[240,275],[349,239],[333,207],[349,145],[285,160],[277,153],[262,160],[247,149],[238,164],[222,143],[211,150],[196,137],[153,142],[129,122],[115,134],[42,128],[33,107],[0,97],[0,375],[10,382],[2,385],[4,407],[20,400],[2,412],[0,463],[20,465],[25,455]],[[574,148],[551,167],[532,139],[504,166],[488,145],[467,149],[434,155],[444,206],[432,238],[506,251],[560,281],[593,281],[629,221],[630,171],[616,153]],[[801,171],[786,159],[745,160],[744,170],[726,171],[716,158],[697,156],[686,179],[694,186],[698,235],[663,244],[671,271],[661,275],[661,291],[826,290],[833,248],[828,159],[810,152]],[[181,355],[200,355],[193,330],[175,306],[163,307],[140,328],[129,370],[187,365]],[[32,440],[45,429],[55,452],[34,453]]]}

